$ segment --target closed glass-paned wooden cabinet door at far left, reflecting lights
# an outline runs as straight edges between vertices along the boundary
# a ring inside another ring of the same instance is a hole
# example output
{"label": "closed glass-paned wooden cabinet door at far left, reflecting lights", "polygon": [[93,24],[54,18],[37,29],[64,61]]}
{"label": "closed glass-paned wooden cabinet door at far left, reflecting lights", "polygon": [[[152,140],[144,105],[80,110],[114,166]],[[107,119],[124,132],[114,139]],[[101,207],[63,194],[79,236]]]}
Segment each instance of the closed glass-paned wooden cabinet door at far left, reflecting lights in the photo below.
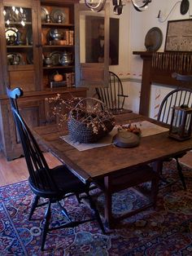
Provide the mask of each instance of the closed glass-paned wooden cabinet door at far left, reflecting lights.
{"label": "closed glass-paned wooden cabinet door at far left, reflecting lights", "polygon": [[11,88],[20,86],[25,91],[38,90],[37,65],[34,65],[38,55],[37,33],[34,33],[37,1],[3,2],[1,51],[5,57],[5,85]]}

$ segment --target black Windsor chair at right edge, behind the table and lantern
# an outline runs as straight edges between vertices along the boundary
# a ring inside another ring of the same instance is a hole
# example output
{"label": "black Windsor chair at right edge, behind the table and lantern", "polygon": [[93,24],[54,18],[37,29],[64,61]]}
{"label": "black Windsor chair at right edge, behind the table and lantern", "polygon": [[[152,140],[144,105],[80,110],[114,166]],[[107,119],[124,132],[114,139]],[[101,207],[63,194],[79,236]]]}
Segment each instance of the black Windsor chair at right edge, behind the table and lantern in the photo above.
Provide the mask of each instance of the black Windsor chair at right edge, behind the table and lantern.
{"label": "black Windsor chair at right edge, behind the table and lantern", "polygon": [[[177,80],[181,82],[189,82],[192,83],[192,76],[184,76],[180,74],[174,73],[172,77],[176,77]],[[171,92],[166,95],[160,104],[159,113],[157,120],[161,121],[165,124],[170,124],[171,117],[172,117],[172,107],[173,106],[181,106],[182,104],[188,105],[190,108],[192,107],[192,90],[185,89],[185,88],[178,88],[176,90],[172,90]],[[177,161],[177,170],[179,177],[181,179],[181,183],[183,188],[186,189],[185,177],[182,173],[182,168],[179,163],[179,158],[183,157],[185,152],[182,154],[178,154],[177,156],[173,157]],[[171,161],[172,159],[167,159],[166,161]],[[163,168],[163,162],[161,162],[162,166],[160,169]]]}

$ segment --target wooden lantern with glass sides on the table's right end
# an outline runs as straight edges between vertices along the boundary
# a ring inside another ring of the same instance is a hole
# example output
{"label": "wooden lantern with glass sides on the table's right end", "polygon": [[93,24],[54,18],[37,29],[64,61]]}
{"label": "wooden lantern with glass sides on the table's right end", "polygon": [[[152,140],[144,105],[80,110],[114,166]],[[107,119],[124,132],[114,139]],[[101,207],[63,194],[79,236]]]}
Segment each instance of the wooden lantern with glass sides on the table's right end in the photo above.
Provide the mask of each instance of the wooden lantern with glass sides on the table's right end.
{"label": "wooden lantern with glass sides on the table's right end", "polygon": [[169,137],[177,140],[190,139],[192,129],[192,108],[187,105],[172,108]]}

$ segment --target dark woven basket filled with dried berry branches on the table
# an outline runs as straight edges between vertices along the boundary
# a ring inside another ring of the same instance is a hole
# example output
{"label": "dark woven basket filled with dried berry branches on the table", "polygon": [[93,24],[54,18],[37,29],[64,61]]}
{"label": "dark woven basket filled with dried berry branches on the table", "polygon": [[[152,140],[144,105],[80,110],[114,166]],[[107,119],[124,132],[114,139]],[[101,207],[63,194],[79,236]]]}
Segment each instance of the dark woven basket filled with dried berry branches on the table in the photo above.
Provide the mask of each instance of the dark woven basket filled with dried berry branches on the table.
{"label": "dark woven basket filled with dried berry branches on the table", "polygon": [[58,94],[46,100],[54,103],[52,113],[53,116],[59,117],[59,125],[68,122],[69,134],[75,141],[96,142],[115,126],[113,114],[99,99],[72,96],[71,99],[64,100]]}

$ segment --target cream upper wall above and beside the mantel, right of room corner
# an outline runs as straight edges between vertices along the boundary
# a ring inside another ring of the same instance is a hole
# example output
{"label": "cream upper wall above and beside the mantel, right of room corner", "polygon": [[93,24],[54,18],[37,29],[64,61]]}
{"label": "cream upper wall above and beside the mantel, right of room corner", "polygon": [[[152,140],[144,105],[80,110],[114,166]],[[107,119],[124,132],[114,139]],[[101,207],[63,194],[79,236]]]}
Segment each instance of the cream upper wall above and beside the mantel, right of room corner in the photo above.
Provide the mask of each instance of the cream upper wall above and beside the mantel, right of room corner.
{"label": "cream upper wall above and beside the mantel, right of room corner", "polygon": [[[168,20],[181,20],[189,19],[189,12],[185,15],[180,14],[181,1],[176,0],[152,0],[149,4],[149,8],[146,11],[137,12],[133,7],[130,8],[130,66],[131,73],[142,72],[142,63],[137,56],[131,55],[132,51],[146,51],[144,46],[146,33],[153,27],[159,27],[163,33],[163,43],[159,48],[159,51],[164,51],[164,42],[166,37],[166,29]],[[173,9],[172,7],[175,6]],[[157,19],[157,15],[161,11],[160,19]],[[165,22],[164,20],[169,12],[171,14]],[[190,0],[190,13],[192,15],[192,0]],[[139,72],[138,72],[139,71]]]}

